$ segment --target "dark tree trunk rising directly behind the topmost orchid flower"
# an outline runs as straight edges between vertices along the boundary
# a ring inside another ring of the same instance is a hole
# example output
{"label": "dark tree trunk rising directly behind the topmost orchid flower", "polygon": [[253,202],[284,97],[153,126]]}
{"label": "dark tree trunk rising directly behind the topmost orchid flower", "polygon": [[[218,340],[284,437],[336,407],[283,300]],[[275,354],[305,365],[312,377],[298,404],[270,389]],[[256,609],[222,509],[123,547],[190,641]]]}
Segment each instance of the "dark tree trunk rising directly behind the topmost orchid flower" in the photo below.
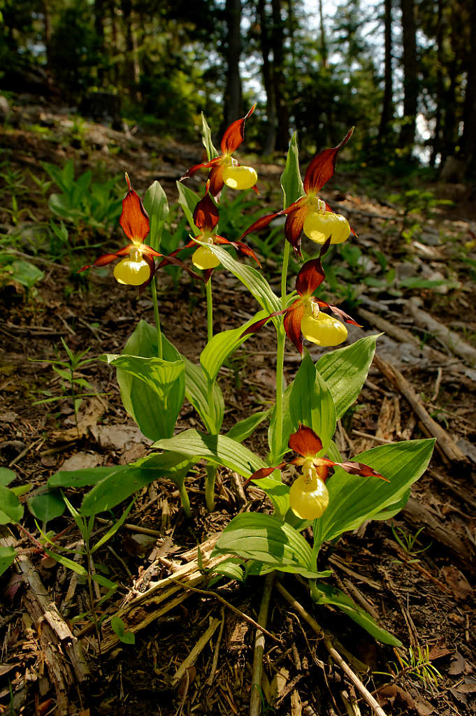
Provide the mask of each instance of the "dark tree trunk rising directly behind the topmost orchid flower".
{"label": "dark tree trunk rising directly behind the topmost orchid flower", "polygon": [[241,55],[241,0],[226,0],[226,25],[228,37],[225,49],[226,87],[223,104],[225,125],[231,124],[242,113],[242,94],[240,77]]}

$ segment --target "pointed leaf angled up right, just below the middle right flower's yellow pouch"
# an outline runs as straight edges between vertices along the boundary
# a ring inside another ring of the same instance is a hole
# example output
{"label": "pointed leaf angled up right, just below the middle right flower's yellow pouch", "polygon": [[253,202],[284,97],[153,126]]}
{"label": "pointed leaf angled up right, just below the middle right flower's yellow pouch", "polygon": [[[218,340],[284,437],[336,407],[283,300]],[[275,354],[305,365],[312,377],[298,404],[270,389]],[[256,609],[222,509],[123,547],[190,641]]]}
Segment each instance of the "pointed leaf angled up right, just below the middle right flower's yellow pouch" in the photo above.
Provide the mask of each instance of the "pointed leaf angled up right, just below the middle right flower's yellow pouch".
{"label": "pointed leaf angled up right, just below the middle right flower's yellow pouch", "polygon": [[366,336],[351,346],[326,353],[316,363],[316,368],[334,398],[337,420],[359,396],[374,358],[379,335],[382,334]]}

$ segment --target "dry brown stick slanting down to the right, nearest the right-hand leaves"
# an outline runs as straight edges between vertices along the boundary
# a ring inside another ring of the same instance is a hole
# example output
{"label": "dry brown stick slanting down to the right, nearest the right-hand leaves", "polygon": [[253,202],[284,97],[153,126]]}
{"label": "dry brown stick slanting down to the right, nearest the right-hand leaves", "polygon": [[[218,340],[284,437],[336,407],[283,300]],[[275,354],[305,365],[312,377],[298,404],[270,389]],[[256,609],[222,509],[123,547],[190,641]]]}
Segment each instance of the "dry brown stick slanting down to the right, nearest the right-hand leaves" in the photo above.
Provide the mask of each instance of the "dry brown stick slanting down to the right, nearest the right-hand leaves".
{"label": "dry brown stick slanting down to the right, nearest the right-hand leaves", "polygon": [[427,430],[437,438],[437,446],[445,457],[450,460],[450,462],[467,463],[467,458],[463,455],[460,448],[457,447],[455,441],[452,440],[446,430],[443,430],[441,425],[438,425],[438,423],[429,416],[422,402],[418,399],[416,392],[414,392],[412,386],[407,379],[403,377],[402,373],[377,355],[374,356],[374,364],[382,375],[392,383],[394,388],[402,393],[418,419],[421,420]]}

